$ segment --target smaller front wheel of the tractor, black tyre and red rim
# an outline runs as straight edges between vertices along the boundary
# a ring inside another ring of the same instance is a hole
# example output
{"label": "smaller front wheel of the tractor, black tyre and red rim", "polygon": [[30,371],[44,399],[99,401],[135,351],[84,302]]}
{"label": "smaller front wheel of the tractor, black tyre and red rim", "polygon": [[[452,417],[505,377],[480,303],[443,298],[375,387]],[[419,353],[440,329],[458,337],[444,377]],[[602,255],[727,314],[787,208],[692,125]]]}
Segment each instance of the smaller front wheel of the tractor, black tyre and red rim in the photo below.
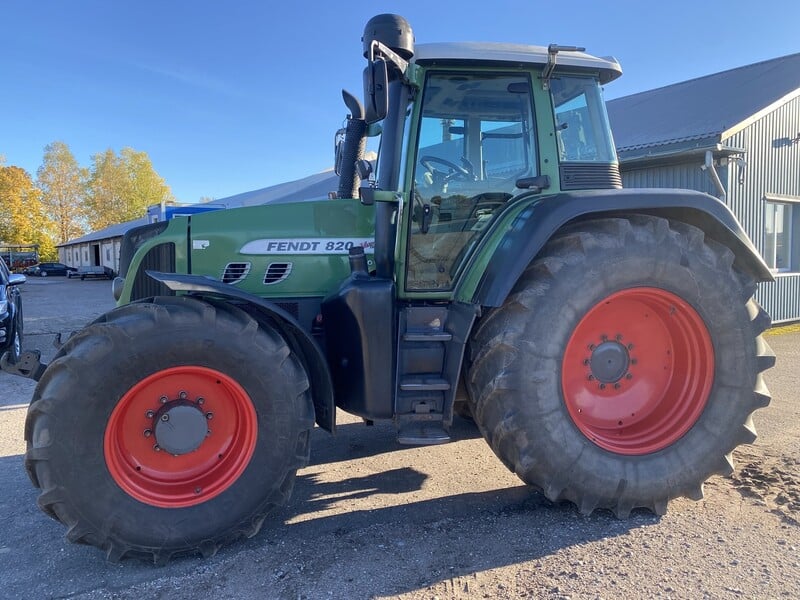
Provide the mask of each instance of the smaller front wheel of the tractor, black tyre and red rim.
{"label": "smaller front wheel of the tractor, black tyre and red rim", "polygon": [[28,411],[39,506],[109,560],[213,555],[284,504],[308,462],[309,382],[224,303],[158,298],[69,339]]}

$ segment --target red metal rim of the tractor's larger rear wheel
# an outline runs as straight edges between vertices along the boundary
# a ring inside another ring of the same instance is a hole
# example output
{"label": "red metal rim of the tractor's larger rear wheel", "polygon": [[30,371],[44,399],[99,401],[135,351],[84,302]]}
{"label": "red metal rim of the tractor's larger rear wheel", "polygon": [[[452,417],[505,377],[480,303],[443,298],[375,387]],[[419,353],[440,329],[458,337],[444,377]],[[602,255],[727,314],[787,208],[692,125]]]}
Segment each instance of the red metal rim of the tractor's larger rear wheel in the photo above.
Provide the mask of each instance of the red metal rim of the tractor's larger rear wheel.
{"label": "red metal rim of the tractor's larger rear wheel", "polygon": [[561,366],[578,429],[617,454],[657,452],[705,408],[714,379],[711,336],[689,304],[658,288],[605,298],[581,319]]}

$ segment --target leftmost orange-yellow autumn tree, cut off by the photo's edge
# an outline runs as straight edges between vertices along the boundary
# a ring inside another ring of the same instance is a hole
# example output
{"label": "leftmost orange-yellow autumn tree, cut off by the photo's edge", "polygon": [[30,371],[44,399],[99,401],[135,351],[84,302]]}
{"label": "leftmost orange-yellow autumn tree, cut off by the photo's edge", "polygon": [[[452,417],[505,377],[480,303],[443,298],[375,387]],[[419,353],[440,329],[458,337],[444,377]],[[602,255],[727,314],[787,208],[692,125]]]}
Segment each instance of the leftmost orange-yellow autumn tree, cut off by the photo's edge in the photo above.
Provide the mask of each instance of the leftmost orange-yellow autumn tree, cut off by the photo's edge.
{"label": "leftmost orange-yellow autumn tree, cut off by the photo's edge", "polygon": [[42,204],[42,193],[28,172],[0,165],[0,240],[7,244],[38,244],[42,258],[53,259],[53,230]]}

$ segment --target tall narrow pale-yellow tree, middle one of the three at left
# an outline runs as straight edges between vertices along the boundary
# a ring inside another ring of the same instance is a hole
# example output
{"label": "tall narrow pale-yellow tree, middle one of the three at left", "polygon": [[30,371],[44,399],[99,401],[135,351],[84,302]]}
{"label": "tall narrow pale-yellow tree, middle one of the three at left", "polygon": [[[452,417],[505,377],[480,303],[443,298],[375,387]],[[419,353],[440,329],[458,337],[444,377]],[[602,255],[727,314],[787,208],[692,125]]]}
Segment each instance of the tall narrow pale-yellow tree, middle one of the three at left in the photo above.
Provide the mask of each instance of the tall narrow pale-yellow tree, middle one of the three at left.
{"label": "tall narrow pale-yellow tree, middle one of the three at left", "polygon": [[85,233],[86,169],[78,165],[69,146],[64,142],[45,146],[36,176],[44,212],[56,226],[57,242],[64,243]]}

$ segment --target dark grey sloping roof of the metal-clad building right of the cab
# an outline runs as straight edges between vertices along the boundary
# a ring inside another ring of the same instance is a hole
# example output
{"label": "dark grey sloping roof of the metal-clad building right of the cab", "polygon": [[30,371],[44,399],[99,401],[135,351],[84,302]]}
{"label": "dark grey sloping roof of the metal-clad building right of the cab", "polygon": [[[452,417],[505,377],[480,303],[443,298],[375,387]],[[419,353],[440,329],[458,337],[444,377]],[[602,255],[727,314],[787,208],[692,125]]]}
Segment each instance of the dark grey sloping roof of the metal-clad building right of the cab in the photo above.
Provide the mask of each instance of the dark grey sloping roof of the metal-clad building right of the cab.
{"label": "dark grey sloping roof of the metal-clad building right of the cab", "polygon": [[800,53],[610,100],[621,160],[719,143],[800,96]]}

